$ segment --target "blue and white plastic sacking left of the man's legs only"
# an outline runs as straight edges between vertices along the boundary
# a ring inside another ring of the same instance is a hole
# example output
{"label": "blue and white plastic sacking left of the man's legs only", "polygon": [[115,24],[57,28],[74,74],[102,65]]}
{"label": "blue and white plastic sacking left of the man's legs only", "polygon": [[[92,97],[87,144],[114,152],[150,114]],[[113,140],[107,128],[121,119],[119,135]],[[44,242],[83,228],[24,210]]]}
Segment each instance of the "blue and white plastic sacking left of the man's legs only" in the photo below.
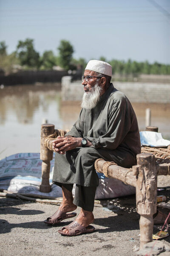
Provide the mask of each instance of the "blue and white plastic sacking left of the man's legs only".
{"label": "blue and white plastic sacking left of the man's legs only", "polygon": [[[10,192],[31,193],[62,197],[62,189],[51,185],[51,192],[39,191],[41,184],[41,164],[39,153],[14,154],[0,160],[0,189]],[[51,160],[50,184],[54,169],[54,159]]]}

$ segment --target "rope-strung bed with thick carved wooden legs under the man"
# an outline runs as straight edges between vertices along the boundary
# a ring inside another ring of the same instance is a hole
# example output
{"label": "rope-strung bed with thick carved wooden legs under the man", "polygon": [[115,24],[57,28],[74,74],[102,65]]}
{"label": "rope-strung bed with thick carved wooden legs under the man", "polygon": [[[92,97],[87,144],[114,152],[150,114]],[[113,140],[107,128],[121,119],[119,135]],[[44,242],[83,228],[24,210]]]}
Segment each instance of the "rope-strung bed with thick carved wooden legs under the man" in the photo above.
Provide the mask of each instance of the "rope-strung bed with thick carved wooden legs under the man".
{"label": "rope-strung bed with thick carved wooden legs under the man", "polygon": [[[53,159],[52,140],[64,136],[66,130],[55,130],[53,124],[41,126],[42,183],[41,192],[50,192],[49,184],[50,161]],[[140,248],[152,241],[153,214],[156,212],[157,176],[170,175],[170,146],[167,148],[142,147],[142,154],[136,156],[137,165],[130,169],[123,168],[113,162],[97,159],[95,169],[106,173],[136,187],[136,209],[140,215]],[[104,169],[103,169],[104,167]]]}

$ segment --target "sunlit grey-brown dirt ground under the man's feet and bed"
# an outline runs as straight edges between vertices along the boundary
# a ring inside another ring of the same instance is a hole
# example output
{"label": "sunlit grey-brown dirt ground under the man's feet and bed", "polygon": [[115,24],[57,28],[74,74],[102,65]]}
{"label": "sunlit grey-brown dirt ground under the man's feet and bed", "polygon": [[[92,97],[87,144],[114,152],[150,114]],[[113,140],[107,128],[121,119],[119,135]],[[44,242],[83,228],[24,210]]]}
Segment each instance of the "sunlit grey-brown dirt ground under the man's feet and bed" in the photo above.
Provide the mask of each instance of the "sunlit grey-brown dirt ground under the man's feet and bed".
{"label": "sunlit grey-brown dirt ground under the man's feet and bed", "polygon": [[[158,187],[164,186],[167,186],[166,190],[159,191],[158,195],[167,195],[167,201],[170,201],[170,177],[159,176]],[[43,223],[58,206],[0,198],[0,256],[99,256],[105,253],[107,256],[133,256],[140,239],[135,195],[119,198],[114,203],[114,211],[107,208],[110,201],[101,200],[101,204],[94,207],[94,233],[65,237],[57,230],[74,218],[57,226]],[[77,208],[77,214],[79,211]],[[169,213],[168,209],[161,211]],[[153,233],[161,227],[161,224],[154,225]],[[170,236],[163,241],[170,245]]]}

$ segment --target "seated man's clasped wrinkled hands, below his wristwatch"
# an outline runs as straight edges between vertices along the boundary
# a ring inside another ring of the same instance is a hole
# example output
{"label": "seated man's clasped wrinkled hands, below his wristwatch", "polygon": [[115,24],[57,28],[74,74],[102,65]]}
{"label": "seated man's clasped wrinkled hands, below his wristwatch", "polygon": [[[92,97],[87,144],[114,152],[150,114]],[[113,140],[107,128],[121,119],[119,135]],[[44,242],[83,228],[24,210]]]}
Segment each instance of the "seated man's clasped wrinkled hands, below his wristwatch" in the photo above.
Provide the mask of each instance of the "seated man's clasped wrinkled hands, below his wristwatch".
{"label": "seated man's clasped wrinkled hands, below his wristwatch", "polygon": [[82,138],[75,137],[60,137],[52,141],[52,148],[59,154],[65,154],[66,151],[81,147]]}

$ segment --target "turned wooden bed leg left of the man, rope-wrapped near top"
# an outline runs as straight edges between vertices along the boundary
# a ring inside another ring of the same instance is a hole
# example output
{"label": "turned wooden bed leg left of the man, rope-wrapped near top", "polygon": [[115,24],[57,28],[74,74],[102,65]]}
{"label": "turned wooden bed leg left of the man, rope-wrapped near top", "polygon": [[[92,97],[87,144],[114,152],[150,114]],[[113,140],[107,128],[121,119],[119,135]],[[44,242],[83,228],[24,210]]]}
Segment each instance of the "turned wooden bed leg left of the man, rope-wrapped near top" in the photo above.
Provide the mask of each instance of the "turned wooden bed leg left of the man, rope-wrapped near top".
{"label": "turned wooden bed leg left of the man, rope-wrapped near top", "polygon": [[40,159],[42,160],[42,182],[40,185],[40,192],[48,193],[51,191],[49,183],[50,176],[50,161],[53,159],[53,151],[50,151],[44,145],[46,137],[54,133],[54,125],[43,124],[41,125],[41,147],[40,147]]}

